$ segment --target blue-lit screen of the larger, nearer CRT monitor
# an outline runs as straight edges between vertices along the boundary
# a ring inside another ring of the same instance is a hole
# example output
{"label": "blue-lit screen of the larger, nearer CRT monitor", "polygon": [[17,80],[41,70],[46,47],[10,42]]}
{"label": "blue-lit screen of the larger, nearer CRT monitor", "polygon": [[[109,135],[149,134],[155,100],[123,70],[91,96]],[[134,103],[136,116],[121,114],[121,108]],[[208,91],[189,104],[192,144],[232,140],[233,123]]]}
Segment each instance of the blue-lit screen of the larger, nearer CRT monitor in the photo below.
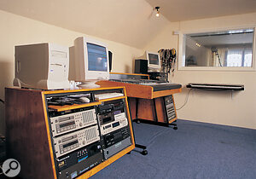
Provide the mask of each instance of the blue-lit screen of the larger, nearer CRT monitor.
{"label": "blue-lit screen of the larger, nearer CRT monitor", "polygon": [[106,47],[97,44],[87,43],[88,50],[88,70],[108,71],[108,60]]}

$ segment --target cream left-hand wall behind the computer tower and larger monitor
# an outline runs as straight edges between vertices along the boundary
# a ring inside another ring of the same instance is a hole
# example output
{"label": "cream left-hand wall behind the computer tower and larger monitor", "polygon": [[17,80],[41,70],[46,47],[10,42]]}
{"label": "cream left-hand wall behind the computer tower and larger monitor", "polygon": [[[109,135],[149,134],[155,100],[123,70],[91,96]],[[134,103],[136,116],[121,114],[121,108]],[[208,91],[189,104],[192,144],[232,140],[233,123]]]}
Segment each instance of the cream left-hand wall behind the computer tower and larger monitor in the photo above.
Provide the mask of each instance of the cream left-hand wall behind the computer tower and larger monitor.
{"label": "cream left-hand wall behind the computer tower and larger monitor", "polygon": [[[14,78],[15,45],[29,43],[57,43],[72,46],[73,40],[84,34],[50,26],[36,20],[0,11],[0,98],[4,100],[4,88],[12,86]],[[132,61],[143,50],[122,43],[98,38],[108,43],[113,52],[112,72],[132,72]],[[4,132],[4,106],[0,103],[0,133]]]}

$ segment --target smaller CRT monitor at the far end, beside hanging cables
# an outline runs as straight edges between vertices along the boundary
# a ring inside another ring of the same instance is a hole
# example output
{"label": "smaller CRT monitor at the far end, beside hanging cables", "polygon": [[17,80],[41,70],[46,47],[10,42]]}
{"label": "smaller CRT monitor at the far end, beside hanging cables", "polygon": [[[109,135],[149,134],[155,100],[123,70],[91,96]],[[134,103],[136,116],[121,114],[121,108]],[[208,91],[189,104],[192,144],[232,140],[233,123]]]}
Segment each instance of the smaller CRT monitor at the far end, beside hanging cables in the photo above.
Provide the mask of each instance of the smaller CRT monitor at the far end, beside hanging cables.
{"label": "smaller CRT monitor at the far end, beside hanging cables", "polygon": [[148,72],[160,71],[160,56],[158,53],[146,51],[146,58],[148,60]]}

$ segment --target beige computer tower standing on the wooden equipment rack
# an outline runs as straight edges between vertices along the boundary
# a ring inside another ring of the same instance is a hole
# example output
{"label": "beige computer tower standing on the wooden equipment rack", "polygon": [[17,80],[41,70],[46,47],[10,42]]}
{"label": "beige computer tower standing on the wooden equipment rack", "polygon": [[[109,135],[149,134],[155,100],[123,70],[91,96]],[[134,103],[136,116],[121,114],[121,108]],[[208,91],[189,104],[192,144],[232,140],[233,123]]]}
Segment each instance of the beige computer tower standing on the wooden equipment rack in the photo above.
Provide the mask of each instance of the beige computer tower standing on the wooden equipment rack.
{"label": "beige computer tower standing on the wooden equipment rack", "polygon": [[15,46],[15,86],[68,89],[68,69],[68,47],[52,43]]}

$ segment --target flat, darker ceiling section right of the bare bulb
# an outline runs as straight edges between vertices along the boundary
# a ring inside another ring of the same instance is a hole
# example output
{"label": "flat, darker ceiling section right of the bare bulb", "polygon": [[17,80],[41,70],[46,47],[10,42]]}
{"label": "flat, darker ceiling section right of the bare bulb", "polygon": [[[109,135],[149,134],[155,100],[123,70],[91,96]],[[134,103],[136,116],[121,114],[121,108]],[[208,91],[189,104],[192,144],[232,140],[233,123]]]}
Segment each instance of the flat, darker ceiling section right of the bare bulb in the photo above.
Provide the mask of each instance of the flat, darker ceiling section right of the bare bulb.
{"label": "flat, darker ceiling section right of the bare bulb", "polygon": [[[146,0],[171,22],[256,12],[255,0]],[[256,17],[255,17],[256,18]]]}

